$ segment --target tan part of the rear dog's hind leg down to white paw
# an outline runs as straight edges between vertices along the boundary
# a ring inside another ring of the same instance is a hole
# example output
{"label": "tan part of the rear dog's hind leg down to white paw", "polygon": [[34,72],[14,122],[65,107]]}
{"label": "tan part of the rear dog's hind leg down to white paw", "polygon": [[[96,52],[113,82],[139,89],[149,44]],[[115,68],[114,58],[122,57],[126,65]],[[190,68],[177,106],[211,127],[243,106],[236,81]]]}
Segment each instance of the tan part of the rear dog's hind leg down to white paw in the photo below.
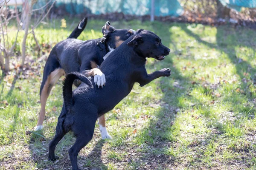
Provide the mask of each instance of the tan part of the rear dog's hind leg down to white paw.
{"label": "tan part of the rear dog's hind leg down to white paw", "polygon": [[[41,110],[38,117],[38,122],[36,124],[35,129],[42,128],[44,122],[44,115],[45,115],[45,105],[47,102],[47,98],[51,92],[52,87],[56,84],[58,79],[65,74],[62,68],[58,68],[47,77],[47,80],[44,84],[44,88],[41,91],[40,102],[41,102]],[[40,126],[40,127],[39,127]],[[38,128],[37,128],[38,127]]]}

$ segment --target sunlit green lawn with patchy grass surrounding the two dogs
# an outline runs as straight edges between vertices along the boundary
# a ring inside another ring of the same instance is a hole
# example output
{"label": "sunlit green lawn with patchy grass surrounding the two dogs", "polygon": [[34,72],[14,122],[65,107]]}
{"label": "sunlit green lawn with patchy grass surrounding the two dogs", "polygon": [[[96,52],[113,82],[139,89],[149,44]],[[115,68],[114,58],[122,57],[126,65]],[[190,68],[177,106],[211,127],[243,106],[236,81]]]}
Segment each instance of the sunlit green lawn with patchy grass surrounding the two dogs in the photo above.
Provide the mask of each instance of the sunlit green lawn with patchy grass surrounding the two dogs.
{"label": "sunlit green lawn with patchy grass surrounding the two dogs", "polygon": [[[57,20],[41,26],[36,36],[43,51],[35,52],[35,41],[29,35],[25,71],[13,69],[7,75],[0,72],[0,169],[70,169],[71,134],[57,146],[60,159],[47,161],[48,144],[62,106],[61,80],[47,101],[44,130],[40,134],[29,131],[38,118],[39,88],[49,51],[78,22],[67,21],[67,28],[60,28]],[[79,39],[102,37],[104,24],[90,20]],[[171,68],[172,76],[143,88],[135,85],[131,94],[106,114],[113,139],[102,140],[96,125],[92,141],[79,153],[79,167],[255,170],[256,31],[140,21],[111,25],[148,29],[159,35],[171,53],[163,61],[148,59],[146,67],[148,73]],[[17,45],[17,54],[19,48]],[[13,57],[11,67],[15,68],[17,62],[20,58]]]}

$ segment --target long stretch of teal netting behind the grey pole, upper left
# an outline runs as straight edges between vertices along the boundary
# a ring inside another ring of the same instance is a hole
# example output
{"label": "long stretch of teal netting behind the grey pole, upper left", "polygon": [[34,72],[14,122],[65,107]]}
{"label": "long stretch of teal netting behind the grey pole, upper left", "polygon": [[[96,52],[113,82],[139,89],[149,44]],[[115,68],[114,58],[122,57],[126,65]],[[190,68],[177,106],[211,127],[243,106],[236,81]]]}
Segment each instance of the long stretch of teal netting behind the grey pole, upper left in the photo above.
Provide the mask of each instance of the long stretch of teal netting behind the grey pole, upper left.
{"label": "long stretch of teal netting behind the grey pole, upper left", "polygon": [[[47,0],[38,0],[35,8],[44,6]],[[155,0],[155,16],[180,16],[183,8],[177,0]],[[106,14],[123,12],[132,15],[148,15],[151,0],[57,0],[56,8],[64,8],[70,14]]]}

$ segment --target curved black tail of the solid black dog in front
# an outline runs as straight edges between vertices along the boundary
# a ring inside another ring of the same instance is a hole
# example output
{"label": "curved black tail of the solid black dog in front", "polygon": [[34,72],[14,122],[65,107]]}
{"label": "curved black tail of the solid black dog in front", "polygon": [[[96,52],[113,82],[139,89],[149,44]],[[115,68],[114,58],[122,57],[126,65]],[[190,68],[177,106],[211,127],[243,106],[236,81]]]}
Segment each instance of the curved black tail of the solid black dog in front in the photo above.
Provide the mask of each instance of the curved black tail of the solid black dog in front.
{"label": "curved black tail of the solid black dog in front", "polygon": [[72,72],[67,74],[66,79],[63,82],[63,99],[65,109],[73,106],[73,92],[72,85],[75,79],[79,79],[81,82],[87,84],[90,88],[93,88],[92,82],[79,72]]}

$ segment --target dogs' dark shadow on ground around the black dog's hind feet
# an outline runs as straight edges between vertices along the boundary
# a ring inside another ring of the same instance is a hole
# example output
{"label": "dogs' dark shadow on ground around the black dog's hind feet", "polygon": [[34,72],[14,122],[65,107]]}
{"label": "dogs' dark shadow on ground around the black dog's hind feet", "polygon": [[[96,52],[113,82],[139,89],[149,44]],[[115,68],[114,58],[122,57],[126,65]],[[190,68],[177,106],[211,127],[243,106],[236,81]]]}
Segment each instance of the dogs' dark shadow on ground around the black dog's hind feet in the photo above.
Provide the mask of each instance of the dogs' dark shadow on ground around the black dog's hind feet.
{"label": "dogs' dark shadow on ground around the black dog's hind feet", "polygon": [[[41,169],[42,167],[50,169],[66,169],[67,167],[71,168],[68,150],[75,142],[75,137],[72,133],[66,134],[55,148],[55,154],[60,158],[55,162],[48,161],[48,144],[52,140],[54,134],[48,138],[43,135],[42,131],[27,131],[26,133],[31,134],[29,139],[29,150],[32,159],[37,162],[36,167],[38,169]],[[84,156],[82,153],[79,154],[77,161],[81,169],[91,169],[95,167],[99,167],[104,170],[108,169],[108,166],[102,162],[102,147],[104,146],[105,142],[105,140],[99,139],[96,144],[94,144],[93,150],[91,150],[87,156]],[[87,149],[87,147],[84,147],[84,149]]]}

